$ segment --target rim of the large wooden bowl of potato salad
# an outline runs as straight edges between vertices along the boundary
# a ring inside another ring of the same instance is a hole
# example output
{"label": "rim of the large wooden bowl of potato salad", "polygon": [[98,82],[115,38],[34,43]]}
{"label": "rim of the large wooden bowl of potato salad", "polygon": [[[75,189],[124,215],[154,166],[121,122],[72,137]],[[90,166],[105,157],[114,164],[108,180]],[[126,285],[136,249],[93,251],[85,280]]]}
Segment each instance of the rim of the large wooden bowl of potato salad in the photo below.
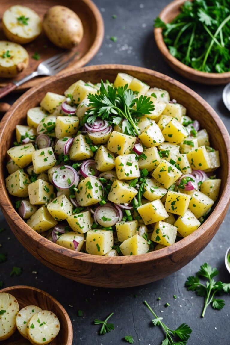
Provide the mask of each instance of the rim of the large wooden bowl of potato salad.
{"label": "rim of the large wooden bowl of potato salad", "polygon": [[[227,157],[226,157],[226,164],[228,166],[228,175],[226,180],[226,185],[223,188],[222,195],[212,211],[211,215],[208,217],[208,219],[192,234],[189,236],[182,238],[177,243],[174,243],[171,246],[156,250],[154,252],[141,254],[141,255],[133,255],[133,256],[118,256],[118,257],[109,257],[109,256],[99,256],[99,255],[92,255],[88,253],[80,253],[80,252],[74,252],[73,250],[61,247],[56,245],[55,243],[50,242],[48,239],[42,237],[39,235],[36,231],[32,230],[26,222],[18,215],[17,211],[14,209],[14,207],[11,205],[11,201],[8,195],[8,192],[5,187],[5,179],[4,176],[0,173],[0,205],[2,208],[4,208],[6,213],[9,213],[9,211],[12,213],[12,219],[14,220],[14,223],[16,226],[20,228],[21,231],[26,233],[28,237],[33,238],[33,240],[36,240],[40,243],[40,245],[43,245],[47,248],[47,250],[53,250],[54,252],[61,253],[63,256],[67,256],[69,258],[82,260],[83,262],[91,262],[91,263],[97,263],[97,264],[106,264],[106,265],[121,265],[121,264],[136,264],[140,262],[148,262],[152,261],[154,259],[160,259],[169,255],[172,255],[176,252],[178,252],[181,248],[186,247],[187,245],[193,243],[196,241],[198,237],[200,237],[202,234],[204,234],[206,231],[209,230],[209,228],[212,226],[212,224],[215,223],[216,219],[218,218],[218,215],[227,207],[227,205],[230,203],[230,193],[227,188],[227,186],[230,184],[230,137],[228,134],[228,131],[226,127],[224,126],[222,120],[217,115],[216,111],[212,109],[212,107],[196,92],[194,92],[192,89],[187,87],[186,85],[180,83],[179,81],[169,78],[166,75],[163,75],[162,73],[149,70],[147,68],[142,67],[136,67],[136,66],[130,66],[130,65],[116,65],[116,64],[110,64],[110,65],[96,65],[96,66],[88,66],[83,67],[76,71],[76,74],[84,73],[84,72],[90,72],[90,71],[98,71],[100,73],[101,70],[113,70],[116,69],[120,72],[141,72],[143,74],[147,74],[149,77],[153,76],[162,80],[166,80],[167,82],[172,83],[176,87],[182,89],[183,91],[186,91],[189,93],[190,96],[192,96],[194,99],[199,101],[202,106],[208,111],[211,118],[216,122],[217,127],[219,128],[219,131],[221,132],[221,135],[223,137],[224,144],[226,145],[226,151],[227,151]],[[38,89],[43,88],[44,86],[49,85],[50,83],[55,82],[56,80],[64,79],[68,76],[73,74],[72,72],[66,72],[63,73],[60,76],[54,76],[49,78],[46,82],[42,83],[39,87],[31,88],[30,90],[26,91],[13,105],[12,107],[7,111],[7,113],[2,118],[2,121],[0,122],[0,160],[2,155],[1,150],[1,142],[2,142],[2,135],[5,129],[7,129],[7,124],[9,121],[9,118],[13,116],[13,112],[17,111],[17,107],[24,102],[25,99],[30,98],[33,93],[37,92]],[[224,205],[224,206],[223,206]]]}

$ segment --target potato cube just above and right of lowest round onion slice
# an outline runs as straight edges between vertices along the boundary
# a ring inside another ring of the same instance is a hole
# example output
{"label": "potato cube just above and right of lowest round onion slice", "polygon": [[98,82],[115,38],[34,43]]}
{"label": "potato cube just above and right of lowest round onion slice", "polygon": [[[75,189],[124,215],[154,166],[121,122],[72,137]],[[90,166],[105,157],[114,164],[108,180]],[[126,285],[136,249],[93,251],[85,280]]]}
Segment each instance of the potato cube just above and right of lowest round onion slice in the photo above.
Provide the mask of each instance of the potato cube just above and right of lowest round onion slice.
{"label": "potato cube just above and right of lowest round onion slice", "polygon": [[115,204],[129,204],[137,193],[137,189],[130,187],[128,183],[114,180],[108,194],[108,200]]}

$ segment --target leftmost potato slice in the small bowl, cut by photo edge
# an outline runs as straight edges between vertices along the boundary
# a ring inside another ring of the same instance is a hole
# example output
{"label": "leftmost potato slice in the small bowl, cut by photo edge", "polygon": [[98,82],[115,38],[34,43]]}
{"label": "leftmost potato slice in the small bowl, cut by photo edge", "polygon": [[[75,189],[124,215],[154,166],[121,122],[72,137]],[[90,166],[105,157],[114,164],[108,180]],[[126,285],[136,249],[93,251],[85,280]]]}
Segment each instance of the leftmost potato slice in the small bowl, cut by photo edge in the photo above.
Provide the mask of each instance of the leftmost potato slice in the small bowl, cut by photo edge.
{"label": "leftmost potato slice in the small bowl, cut by photo edge", "polygon": [[19,305],[12,295],[0,293],[0,341],[8,339],[16,330]]}

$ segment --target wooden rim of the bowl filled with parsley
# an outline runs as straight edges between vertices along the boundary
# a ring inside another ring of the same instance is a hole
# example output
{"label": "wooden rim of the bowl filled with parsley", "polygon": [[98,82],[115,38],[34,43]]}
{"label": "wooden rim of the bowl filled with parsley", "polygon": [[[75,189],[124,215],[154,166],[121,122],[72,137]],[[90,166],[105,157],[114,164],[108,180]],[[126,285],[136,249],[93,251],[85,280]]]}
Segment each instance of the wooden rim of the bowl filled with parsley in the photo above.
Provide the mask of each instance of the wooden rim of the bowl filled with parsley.
{"label": "wooden rim of the bowl filled with parsley", "polygon": [[[175,7],[181,6],[186,0],[174,0],[170,2],[163,10],[160,12],[159,17],[165,21],[166,14]],[[163,36],[162,36],[162,28],[154,28],[154,36],[155,41],[157,43],[158,49],[160,50],[161,54],[169,60],[173,65],[177,66],[179,69],[183,70],[184,72],[189,73],[190,75],[194,75],[200,77],[202,79],[213,78],[216,80],[230,78],[230,72],[222,72],[222,73],[209,73],[209,72],[202,72],[198,71],[192,67],[189,67],[182,63],[180,60],[172,56],[170,54],[168,47],[164,43]]]}

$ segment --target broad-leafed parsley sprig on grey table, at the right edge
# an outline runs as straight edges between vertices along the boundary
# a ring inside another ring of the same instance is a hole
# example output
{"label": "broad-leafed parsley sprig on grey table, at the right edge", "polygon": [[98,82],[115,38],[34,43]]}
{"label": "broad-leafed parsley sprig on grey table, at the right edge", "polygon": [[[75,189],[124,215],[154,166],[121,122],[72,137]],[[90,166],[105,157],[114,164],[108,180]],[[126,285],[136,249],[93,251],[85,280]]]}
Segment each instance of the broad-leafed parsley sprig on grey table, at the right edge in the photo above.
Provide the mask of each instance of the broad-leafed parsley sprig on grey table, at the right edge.
{"label": "broad-leafed parsley sprig on grey table, at the right edge", "polygon": [[[217,293],[230,292],[230,284],[222,283],[213,279],[218,275],[219,271],[216,267],[212,268],[209,264],[204,263],[196,276],[188,277],[185,286],[188,290],[195,291],[198,296],[205,297],[203,312],[201,317],[204,317],[207,307],[211,304],[214,309],[222,309],[225,305],[223,299],[215,298]],[[199,277],[207,278],[206,284],[200,282]]]}

